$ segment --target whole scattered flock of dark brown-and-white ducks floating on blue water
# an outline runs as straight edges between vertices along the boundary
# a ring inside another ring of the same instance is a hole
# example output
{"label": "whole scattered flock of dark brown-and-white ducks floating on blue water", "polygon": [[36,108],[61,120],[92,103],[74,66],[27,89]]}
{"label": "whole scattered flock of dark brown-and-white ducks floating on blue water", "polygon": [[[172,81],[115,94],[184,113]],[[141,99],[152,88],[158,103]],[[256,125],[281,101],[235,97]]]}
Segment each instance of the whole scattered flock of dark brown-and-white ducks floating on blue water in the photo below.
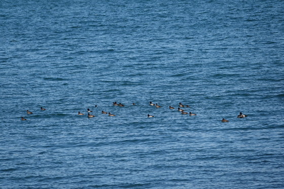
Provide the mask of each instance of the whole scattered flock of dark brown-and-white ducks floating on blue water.
{"label": "whole scattered flock of dark brown-and-white ducks floating on blue water", "polygon": [[[151,106],[155,106],[156,108],[159,108],[159,107],[161,107],[161,106],[159,106],[157,103],[156,104],[153,104],[152,102],[149,102],[150,104],[149,105],[151,105]],[[123,104],[121,104],[121,103],[117,103],[117,102],[113,102],[113,105],[114,106],[120,106],[120,107],[123,107],[124,105]],[[135,105],[134,103],[132,103],[132,105]],[[97,105],[95,105],[95,107],[97,107]],[[196,114],[192,114],[192,112],[185,112],[183,109],[181,109],[180,107],[190,107],[189,105],[183,105],[181,102],[179,103],[179,107],[177,108],[177,111],[181,111],[181,113],[183,114],[183,115],[185,115],[185,114],[189,114],[189,116],[196,116]],[[169,109],[174,109],[174,107],[172,107],[172,106],[169,106]],[[41,107],[41,110],[46,110],[45,108],[43,108],[43,107]],[[27,112],[27,114],[32,114],[32,112],[30,112],[29,110],[26,110],[26,112]],[[93,111],[91,111],[89,108],[87,108],[87,112],[88,112],[88,118],[93,118],[93,117],[95,117],[94,115],[91,115],[90,114],[90,112],[93,112]],[[113,114],[111,114],[111,112],[107,112],[107,111],[101,111],[101,114],[108,114],[109,116],[115,116],[115,115],[113,115]],[[83,116],[84,114],[83,113],[81,113],[80,111],[78,111],[78,115],[79,116]],[[147,115],[148,116],[148,118],[153,118],[154,116],[150,116],[149,114]],[[241,112],[240,112],[240,114],[237,116],[237,118],[244,118],[244,117],[247,117],[246,115],[244,115],[244,114],[242,114]],[[21,117],[21,120],[26,120],[26,119],[24,119],[23,117]],[[228,120],[225,120],[224,118],[223,118],[223,120],[221,120],[222,122],[229,122]]]}

